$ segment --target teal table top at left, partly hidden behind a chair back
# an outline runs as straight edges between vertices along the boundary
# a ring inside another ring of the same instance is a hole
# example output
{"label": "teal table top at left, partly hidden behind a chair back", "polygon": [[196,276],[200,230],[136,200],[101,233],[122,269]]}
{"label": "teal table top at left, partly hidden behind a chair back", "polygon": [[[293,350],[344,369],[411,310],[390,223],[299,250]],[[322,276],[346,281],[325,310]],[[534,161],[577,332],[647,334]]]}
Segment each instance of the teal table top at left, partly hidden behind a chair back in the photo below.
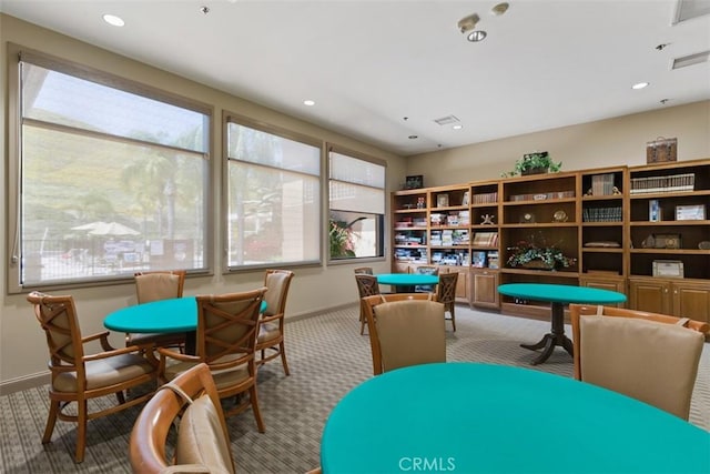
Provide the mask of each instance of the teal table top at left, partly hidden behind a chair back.
{"label": "teal table top at left, partly hidden behind a chair back", "polygon": [[[262,313],[266,302],[262,301]],[[132,333],[176,333],[197,329],[194,296],[160,300],[122,307],[106,315],[103,325],[111,331]]]}

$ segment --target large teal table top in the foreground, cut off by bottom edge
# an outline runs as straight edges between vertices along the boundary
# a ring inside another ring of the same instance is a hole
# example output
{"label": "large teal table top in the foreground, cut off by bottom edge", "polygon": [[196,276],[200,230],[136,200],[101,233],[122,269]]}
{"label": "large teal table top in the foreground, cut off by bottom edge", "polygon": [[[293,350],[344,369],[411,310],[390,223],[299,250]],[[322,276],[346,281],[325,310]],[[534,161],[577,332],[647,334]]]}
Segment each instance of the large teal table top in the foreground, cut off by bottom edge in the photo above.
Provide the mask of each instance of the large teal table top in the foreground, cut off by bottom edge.
{"label": "large teal table top in the foreground, cut off by bottom edge", "polygon": [[326,422],[321,464],[325,474],[707,474],[710,433],[574,379],[449,362],[353,389]]}

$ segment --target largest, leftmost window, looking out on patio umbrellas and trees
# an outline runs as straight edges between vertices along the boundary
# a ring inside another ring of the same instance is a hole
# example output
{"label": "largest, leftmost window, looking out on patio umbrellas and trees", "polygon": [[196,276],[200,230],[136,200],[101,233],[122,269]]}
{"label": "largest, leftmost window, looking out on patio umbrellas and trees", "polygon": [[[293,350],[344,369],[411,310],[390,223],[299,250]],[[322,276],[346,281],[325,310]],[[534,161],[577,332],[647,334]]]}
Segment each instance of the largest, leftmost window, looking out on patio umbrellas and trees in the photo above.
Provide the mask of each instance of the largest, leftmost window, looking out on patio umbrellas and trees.
{"label": "largest, leftmost window, looking out on patio umbrellas and trees", "polygon": [[18,288],[204,269],[209,110],[37,53],[18,79]]}

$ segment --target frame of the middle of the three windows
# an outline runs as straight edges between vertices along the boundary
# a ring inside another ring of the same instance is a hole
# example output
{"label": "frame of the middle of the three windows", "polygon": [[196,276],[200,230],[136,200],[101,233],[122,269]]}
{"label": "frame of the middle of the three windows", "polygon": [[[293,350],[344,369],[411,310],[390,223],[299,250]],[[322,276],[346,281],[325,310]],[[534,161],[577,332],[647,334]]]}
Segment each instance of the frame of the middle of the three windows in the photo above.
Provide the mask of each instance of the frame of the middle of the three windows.
{"label": "frame of the middle of the three windows", "polygon": [[[222,212],[221,215],[221,223],[222,223],[222,231],[221,231],[221,235],[223,239],[223,252],[222,255],[224,255],[223,262],[222,262],[222,268],[223,268],[223,273],[224,274],[232,274],[232,273],[242,273],[242,272],[252,272],[255,270],[262,270],[262,269],[273,269],[274,265],[277,265],[278,268],[283,268],[283,269],[294,269],[294,268],[304,268],[304,266],[323,266],[323,252],[324,252],[324,239],[322,235],[322,232],[317,232],[320,242],[318,242],[318,251],[317,251],[317,259],[314,260],[304,260],[304,261],[288,261],[288,262],[271,262],[271,263],[254,263],[254,264],[246,264],[246,265],[230,265],[230,258],[229,258],[229,252],[230,252],[230,160],[232,160],[229,155],[230,153],[230,147],[229,147],[229,132],[227,132],[227,128],[230,123],[235,123],[237,125],[242,125],[242,127],[246,127],[250,129],[254,129],[254,130],[258,130],[261,132],[264,133],[270,133],[273,134],[275,137],[280,137],[283,139],[287,139],[287,140],[293,140],[300,143],[304,143],[314,148],[318,149],[318,169],[320,169],[320,174],[318,174],[318,193],[317,193],[317,198],[320,200],[317,209],[318,209],[318,215],[317,215],[317,222],[318,222],[318,229],[323,229],[324,228],[324,212],[323,212],[323,206],[324,206],[324,180],[325,180],[325,173],[326,173],[326,163],[325,163],[325,142],[322,139],[317,139],[307,134],[303,134],[303,133],[298,133],[295,132],[291,129],[286,129],[283,127],[278,127],[278,125],[274,125],[272,123],[267,123],[261,120],[255,120],[253,118],[236,113],[236,112],[232,112],[229,110],[223,110],[222,112],[222,206],[224,209],[224,212]],[[239,160],[236,160],[239,161]],[[271,168],[271,169],[276,169],[274,167],[270,167],[267,164],[260,164],[260,163],[254,163],[254,162],[244,162],[254,167],[263,167],[263,168]],[[284,171],[288,171],[288,172],[294,172],[293,170],[288,170],[288,169],[280,169],[280,170],[284,170]],[[304,173],[305,174],[305,173]]]}

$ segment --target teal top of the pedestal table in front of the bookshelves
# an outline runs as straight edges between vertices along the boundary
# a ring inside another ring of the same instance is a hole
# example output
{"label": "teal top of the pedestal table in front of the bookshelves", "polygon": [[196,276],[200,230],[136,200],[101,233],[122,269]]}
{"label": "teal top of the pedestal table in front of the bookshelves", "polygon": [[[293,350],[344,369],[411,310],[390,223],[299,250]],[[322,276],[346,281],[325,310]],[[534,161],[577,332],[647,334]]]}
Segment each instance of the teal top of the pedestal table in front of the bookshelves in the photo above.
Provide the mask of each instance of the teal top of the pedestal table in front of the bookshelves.
{"label": "teal top of the pedestal table in front of the bookshelves", "polygon": [[503,284],[498,286],[498,292],[507,296],[552,303],[612,304],[626,301],[626,295],[616,291],[546,283]]}

